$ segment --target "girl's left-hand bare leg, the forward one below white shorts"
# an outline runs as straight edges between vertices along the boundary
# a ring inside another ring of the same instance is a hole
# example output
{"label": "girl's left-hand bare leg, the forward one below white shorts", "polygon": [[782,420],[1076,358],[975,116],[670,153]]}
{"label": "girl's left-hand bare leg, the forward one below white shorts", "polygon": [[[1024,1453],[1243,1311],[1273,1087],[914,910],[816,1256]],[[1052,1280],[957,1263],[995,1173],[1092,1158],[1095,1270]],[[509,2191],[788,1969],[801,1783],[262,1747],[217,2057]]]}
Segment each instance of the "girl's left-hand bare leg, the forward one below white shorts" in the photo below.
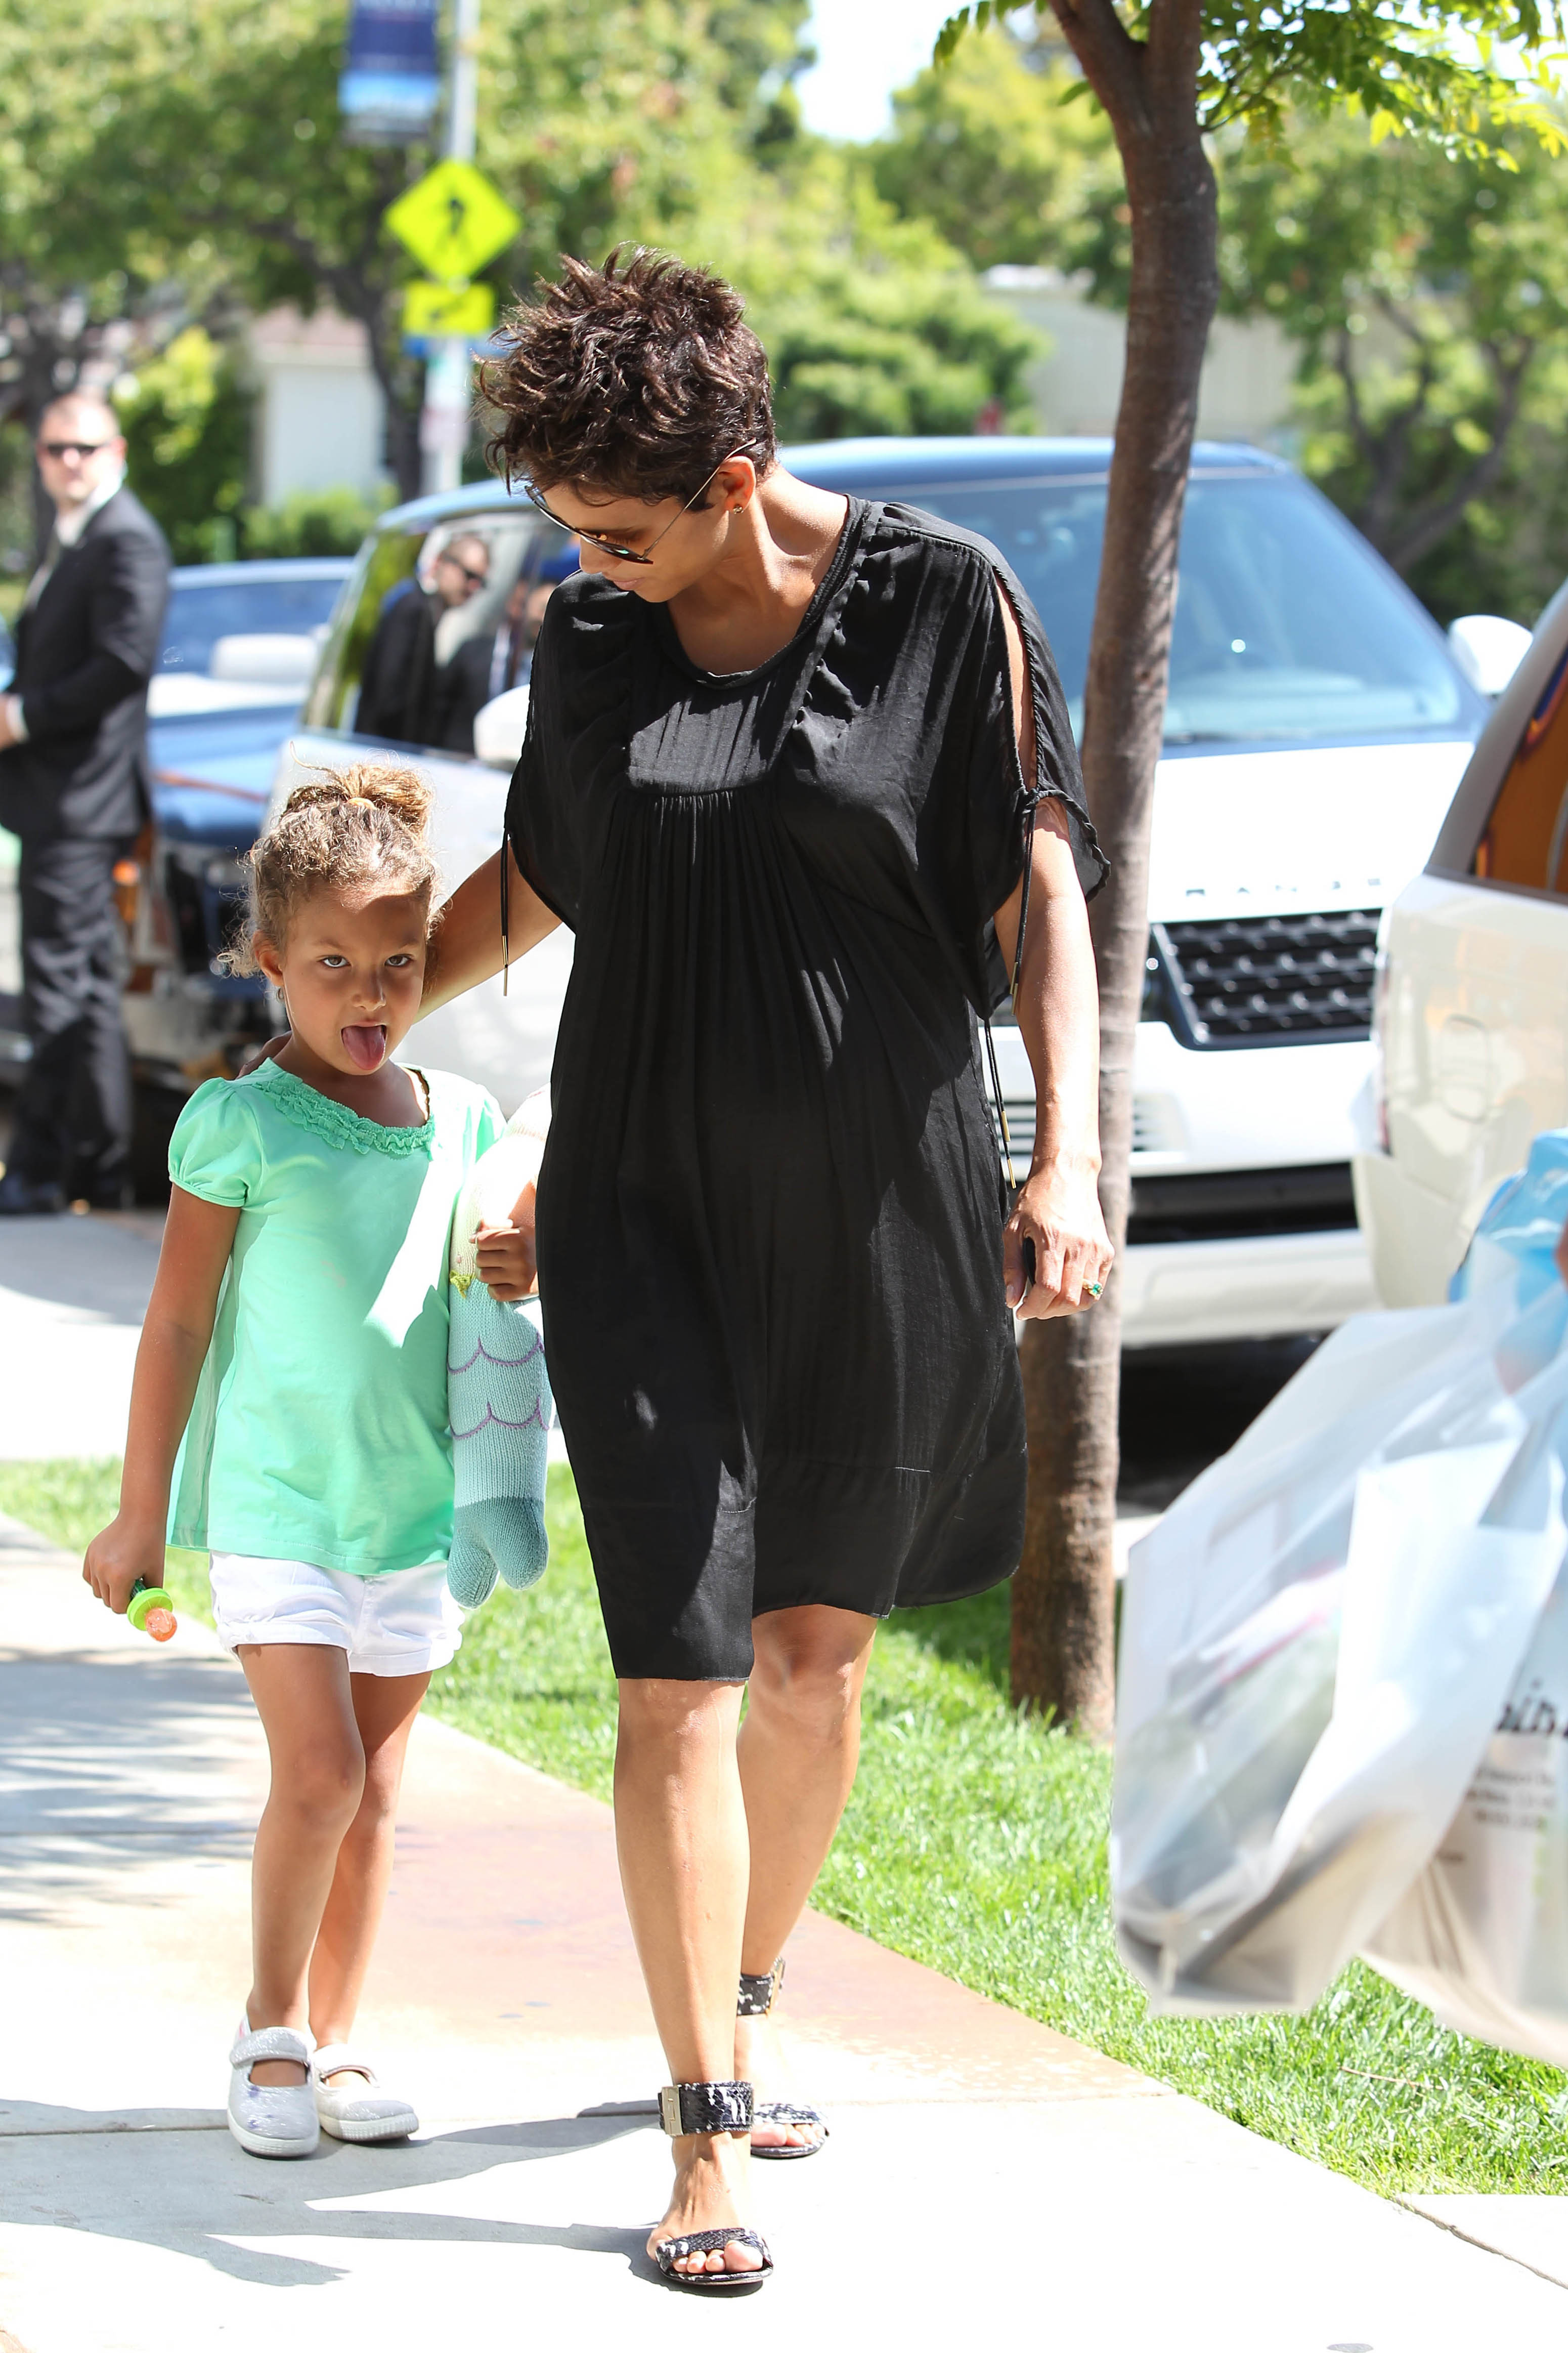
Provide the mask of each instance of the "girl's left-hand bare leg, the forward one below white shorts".
{"label": "girl's left-hand bare leg, the forward one below white shorts", "polygon": [[[240,1642],[273,1760],[252,1857],[252,2026],[308,2026],[310,1953],[343,1833],[364,1798],[364,1744],[348,1654],[324,1642]],[[292,2059],[259,2059],[252,2082],[303,2082]]]}

